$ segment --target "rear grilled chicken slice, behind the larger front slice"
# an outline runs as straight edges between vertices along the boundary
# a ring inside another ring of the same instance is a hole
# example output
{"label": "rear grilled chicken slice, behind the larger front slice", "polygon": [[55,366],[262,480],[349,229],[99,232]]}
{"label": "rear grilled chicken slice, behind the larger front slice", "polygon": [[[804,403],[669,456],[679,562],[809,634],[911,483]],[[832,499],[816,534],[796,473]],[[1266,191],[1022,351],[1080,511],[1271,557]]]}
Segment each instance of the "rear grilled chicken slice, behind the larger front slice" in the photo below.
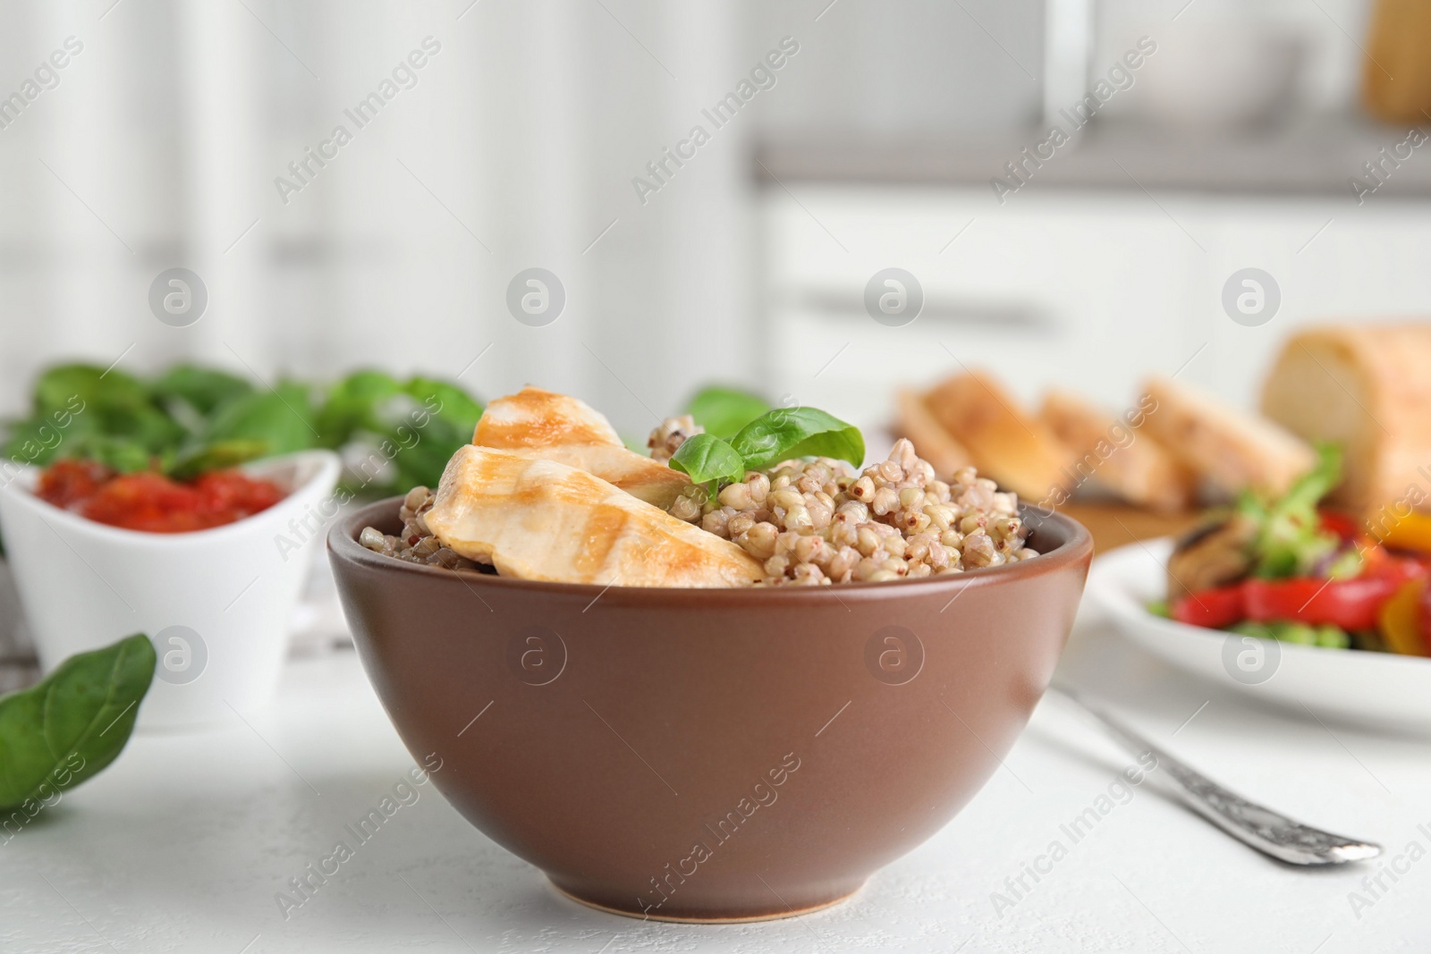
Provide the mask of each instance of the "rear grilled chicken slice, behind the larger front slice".
{"label": "rear grilled chicken slice, behind the larger front slice", "polygon": [[541,388],[487,405],[472,443],[565,463],[661,509],[690,483],[680,471],[628,451],[611,422],[584,400]]}

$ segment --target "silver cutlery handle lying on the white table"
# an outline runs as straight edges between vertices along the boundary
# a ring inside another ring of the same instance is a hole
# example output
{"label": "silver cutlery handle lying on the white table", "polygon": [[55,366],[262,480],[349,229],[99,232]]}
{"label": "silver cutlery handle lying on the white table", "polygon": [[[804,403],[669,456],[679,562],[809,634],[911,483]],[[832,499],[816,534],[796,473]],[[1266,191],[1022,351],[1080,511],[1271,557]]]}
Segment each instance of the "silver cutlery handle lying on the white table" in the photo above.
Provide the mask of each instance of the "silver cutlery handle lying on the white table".
{"label": "silver cutlery handle lying on the white table", "polygon": [[1083,699],[1076,691],[1060,685],[1049,688],[1098,719],[1108,734],[1132,755],[1152,754],[1162,771],[1149,777],[1161,780],[1162,787],[1182,804],[1238,841],[1281,861],[1305,865],[1345,864],[1375,858],[1381,854],[1381,845],[1371,841],[1334,835],[1248,801],[1158,748],[1108,712]]}

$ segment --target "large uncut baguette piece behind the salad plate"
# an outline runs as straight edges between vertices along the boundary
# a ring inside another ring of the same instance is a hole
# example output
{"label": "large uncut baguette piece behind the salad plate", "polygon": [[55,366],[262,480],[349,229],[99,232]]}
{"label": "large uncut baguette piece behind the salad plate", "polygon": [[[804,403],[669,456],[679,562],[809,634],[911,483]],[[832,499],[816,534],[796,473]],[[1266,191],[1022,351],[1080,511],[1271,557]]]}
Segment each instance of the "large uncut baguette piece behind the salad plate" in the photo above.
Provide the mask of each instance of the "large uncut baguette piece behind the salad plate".
{"label": "large uncut baguette piece behind the salad plate", "polygon": [[1431,326],[1314,328],[1286,342],[1262,410],[1308,441],[1342,446],[1332,499],[1367,513],[1415,486],[1431,466]]}

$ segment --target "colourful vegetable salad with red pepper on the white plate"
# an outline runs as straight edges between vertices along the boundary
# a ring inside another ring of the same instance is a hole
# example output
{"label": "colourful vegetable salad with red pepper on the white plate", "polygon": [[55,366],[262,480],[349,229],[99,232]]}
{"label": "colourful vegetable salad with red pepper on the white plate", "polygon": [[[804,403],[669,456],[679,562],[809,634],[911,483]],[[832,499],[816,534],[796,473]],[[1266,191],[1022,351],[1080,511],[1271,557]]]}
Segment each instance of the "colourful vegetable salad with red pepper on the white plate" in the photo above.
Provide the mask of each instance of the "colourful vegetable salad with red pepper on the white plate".
{"label": "colourful vegetable salad with red pepper on the white plate", "polygon": [[1278,499],[1244,492],[1178,541],[1168,599],[1178,622],[1334,649],[1431,655],[1431,555],[1394,551],[1318,502],[1341,479],[1341,452]]}

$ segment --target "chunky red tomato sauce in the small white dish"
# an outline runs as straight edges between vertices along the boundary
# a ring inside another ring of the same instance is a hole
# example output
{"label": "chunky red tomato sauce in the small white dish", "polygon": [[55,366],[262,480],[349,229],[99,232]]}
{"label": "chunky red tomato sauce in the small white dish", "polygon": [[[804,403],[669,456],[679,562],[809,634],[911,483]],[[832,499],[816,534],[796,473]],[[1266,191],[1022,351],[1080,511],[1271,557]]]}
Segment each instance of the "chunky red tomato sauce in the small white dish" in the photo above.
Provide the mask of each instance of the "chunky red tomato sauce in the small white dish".
{"label": "chunky red tomato sauce in the small white dish", "polygon": [[288,495],[240,471],[210,471],[180,483],[155,471],[116,473],[96,461],[59,461],[40,473],[36,496],[110,526],[187,533],[242,521]]}

